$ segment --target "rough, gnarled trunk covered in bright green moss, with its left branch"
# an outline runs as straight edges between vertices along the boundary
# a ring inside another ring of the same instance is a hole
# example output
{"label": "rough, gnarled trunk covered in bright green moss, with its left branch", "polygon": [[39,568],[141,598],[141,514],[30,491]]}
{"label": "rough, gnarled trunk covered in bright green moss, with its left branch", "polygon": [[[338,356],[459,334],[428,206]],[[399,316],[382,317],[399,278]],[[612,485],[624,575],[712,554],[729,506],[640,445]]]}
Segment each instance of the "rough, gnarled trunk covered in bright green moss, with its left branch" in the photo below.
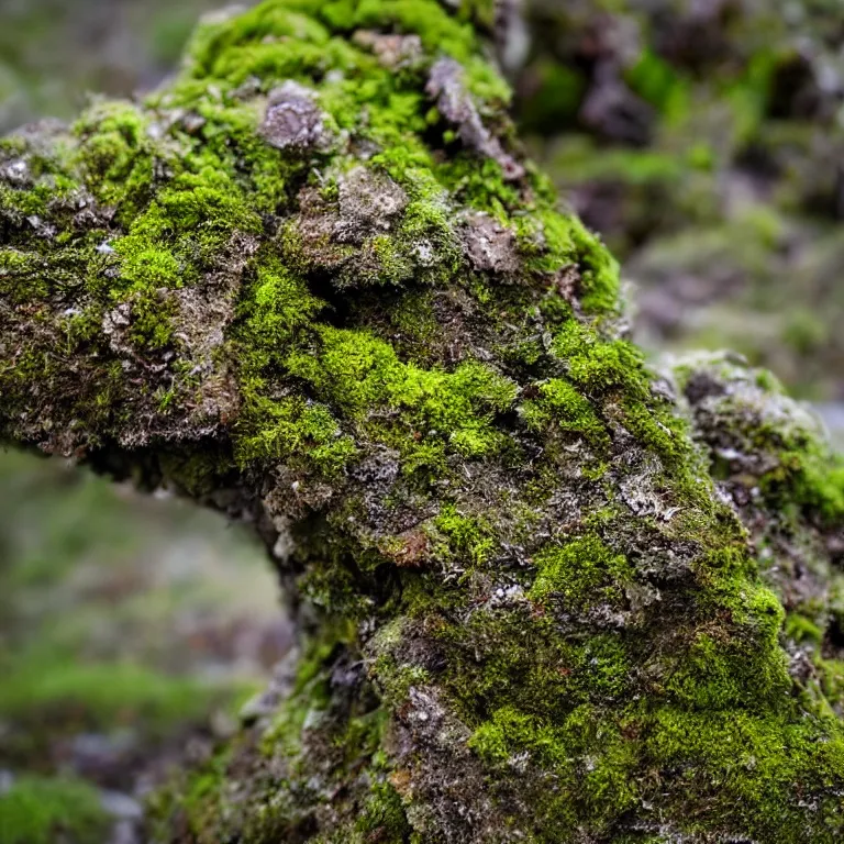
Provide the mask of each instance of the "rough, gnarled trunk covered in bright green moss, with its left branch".
{"label": "rough, gnarled trunk covered in bright green moss, with its left branch", "polygon": [[252,520],[297,609],[154,833],[836,841],[844,471],[644,365],[492,12],[269,0],[2,142],[0,436]]}

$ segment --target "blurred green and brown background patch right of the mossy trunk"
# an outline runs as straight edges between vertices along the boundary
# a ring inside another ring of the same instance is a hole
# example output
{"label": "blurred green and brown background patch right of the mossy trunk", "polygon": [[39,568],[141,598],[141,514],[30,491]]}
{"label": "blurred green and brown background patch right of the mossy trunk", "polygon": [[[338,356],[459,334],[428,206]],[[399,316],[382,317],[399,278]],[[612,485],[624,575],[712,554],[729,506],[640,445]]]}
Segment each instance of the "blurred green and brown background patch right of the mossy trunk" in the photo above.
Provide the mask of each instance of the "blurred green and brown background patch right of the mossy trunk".
{"label": "blurred green and brown background patch right of the mossy trunk", "polygon": [[525,2],[523,134],[635,282],[638,341],[736,349],[841,429],[844,3]]}

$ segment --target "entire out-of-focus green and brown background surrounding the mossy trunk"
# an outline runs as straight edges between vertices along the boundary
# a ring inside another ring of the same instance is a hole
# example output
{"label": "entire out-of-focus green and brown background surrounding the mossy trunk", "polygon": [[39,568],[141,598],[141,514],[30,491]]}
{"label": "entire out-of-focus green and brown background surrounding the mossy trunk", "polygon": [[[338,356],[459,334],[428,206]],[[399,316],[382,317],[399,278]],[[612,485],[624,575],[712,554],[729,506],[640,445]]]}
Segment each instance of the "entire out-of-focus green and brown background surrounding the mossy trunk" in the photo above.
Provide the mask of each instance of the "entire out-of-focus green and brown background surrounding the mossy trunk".
{"label": "entire out-of-focus green and brown background surrounding the mossy trunk", "polygon": [[[638,342],[737,349],[844,444],[844,4],[524,2],[522,135],[622,259]],[[218,5],[0,0],[0,133],[154,87]],[[289,636],[245,531],[0,453],[0,844],[142,841],[145,790]]]}

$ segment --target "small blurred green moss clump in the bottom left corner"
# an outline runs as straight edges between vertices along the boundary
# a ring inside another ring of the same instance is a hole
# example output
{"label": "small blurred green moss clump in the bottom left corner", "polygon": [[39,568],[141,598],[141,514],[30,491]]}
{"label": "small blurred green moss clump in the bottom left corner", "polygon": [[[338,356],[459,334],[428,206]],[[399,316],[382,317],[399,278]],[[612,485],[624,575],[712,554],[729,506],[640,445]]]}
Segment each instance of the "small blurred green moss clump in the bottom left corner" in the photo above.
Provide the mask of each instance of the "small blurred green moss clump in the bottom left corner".
{"label": "small blurred green moss clump in the bottom left corner", "polygon": [[107,828],[97,790],[81,780],[19,777],[0,795],[2,844],[95,844]]}

